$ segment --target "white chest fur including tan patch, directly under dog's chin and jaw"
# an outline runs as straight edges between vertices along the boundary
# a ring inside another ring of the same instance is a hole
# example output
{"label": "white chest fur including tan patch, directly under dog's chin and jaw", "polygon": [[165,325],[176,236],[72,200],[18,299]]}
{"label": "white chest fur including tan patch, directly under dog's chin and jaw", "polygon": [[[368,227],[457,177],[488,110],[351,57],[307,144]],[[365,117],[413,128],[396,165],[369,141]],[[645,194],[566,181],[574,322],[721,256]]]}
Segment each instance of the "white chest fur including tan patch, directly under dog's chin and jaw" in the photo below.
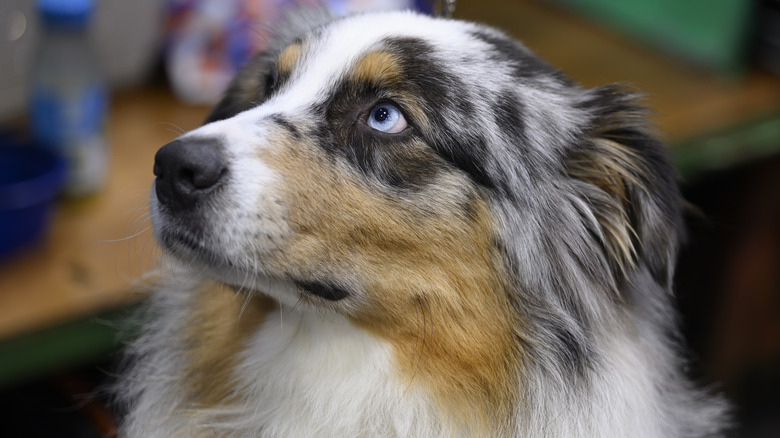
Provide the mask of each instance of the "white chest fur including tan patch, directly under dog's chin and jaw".
{"label": "white chest fur including tan patch, directly under dog's chin and jaw", "polygon": [[[133,389],[143,393],[128,436],[459,434],[415,382],[401,380],[389,343],[336,315],[189,284],[193,289],[161,291],[154,299],[152,307],[165,308],[167,319],[157,322],[157,336],[136,344],[150,357],[133,374]],[[219,328],[191,333],[193,314],[203,318],[200,329]],[[161,354],[163,346],[182,345],[189,351]]]}

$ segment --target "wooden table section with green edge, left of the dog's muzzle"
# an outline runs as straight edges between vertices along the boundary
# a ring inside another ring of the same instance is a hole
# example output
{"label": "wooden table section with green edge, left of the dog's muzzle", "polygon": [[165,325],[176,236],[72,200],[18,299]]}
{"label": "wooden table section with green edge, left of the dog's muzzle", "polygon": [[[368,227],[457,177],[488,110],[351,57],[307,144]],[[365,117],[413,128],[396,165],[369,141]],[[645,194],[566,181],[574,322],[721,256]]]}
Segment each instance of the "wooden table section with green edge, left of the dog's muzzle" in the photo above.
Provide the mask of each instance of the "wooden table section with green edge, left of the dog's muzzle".
{"label": "wooden table section with green edge, left of the dog's muzzle", "polygon": [[164,88],[114,97],[105,190],[61,202],[44,242],[0,261],[0,384],[115,344],[116,327],[96,315],[140,300],[159,255],[147,207],[154,154],[207,111]]}

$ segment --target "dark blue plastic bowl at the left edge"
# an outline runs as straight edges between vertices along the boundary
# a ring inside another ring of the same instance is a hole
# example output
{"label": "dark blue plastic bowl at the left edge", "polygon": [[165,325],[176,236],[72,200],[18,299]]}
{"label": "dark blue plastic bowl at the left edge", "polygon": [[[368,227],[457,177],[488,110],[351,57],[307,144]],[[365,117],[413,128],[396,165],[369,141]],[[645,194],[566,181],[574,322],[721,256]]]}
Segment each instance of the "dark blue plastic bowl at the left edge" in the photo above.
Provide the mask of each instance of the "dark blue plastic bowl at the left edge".
{"label": "dark blue plastic bowl at the left edge", "polygon": [[0,143],[0,258],[43,237],[66,172],[49,150]]}

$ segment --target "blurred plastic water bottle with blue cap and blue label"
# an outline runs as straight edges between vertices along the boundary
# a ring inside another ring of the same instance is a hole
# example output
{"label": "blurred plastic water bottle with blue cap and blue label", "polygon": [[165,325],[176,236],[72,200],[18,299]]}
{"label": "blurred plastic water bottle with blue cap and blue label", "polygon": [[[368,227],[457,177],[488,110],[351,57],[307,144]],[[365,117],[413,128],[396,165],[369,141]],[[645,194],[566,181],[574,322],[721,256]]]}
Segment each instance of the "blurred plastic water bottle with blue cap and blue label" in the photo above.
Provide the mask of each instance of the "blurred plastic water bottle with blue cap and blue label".
{"label": "blurred plastic water bottle with blue cap and blue label", "polygon": [[44,28],[32,78],[31,129],[68,162],[65,194],[93,194],[108,164],[107,91],[89,45],[93,0],[38,0]]}

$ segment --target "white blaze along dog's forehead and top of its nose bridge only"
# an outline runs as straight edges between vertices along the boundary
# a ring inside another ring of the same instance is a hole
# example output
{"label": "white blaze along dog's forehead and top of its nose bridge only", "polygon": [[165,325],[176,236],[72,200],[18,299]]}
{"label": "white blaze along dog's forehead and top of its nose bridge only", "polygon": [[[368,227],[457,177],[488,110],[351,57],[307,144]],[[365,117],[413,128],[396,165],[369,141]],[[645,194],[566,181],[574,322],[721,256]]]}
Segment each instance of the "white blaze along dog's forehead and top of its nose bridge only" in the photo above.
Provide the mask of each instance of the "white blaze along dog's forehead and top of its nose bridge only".
{"label": "white blaze along dog's forehead and top of its nose bridge only", "polygon": [[[488,48],[471,35],[471,31],[478,29],[472,23],[434,19],[413,12],[364,14],[340,19],[319,30],[314,37],[304,37],[298,63],[277,94],[233,119],[239,117],[257,123],[271,114],[312,116],[309,114],[312,105],[325,102],[362,56],[381,49],[384,40],[393,38],[420,39],[434,49],[435,53],[431,56],[442,61],[442,68],[449,69],[456,77],[472,76],[475,83],[490,87],[490,77],[474,71],[475,65],[484,65],[480,56]],[[467,63],[446,62],[455,59]],[[497,72],[493,69],[492,73]],[[300,121],[305,122],[306,119]],[[252,132],[251,125],[244,123],[239,126],[215,122],[197,131],[207,133],[223,129],[241,131],[236,138],[259,135]]]}

